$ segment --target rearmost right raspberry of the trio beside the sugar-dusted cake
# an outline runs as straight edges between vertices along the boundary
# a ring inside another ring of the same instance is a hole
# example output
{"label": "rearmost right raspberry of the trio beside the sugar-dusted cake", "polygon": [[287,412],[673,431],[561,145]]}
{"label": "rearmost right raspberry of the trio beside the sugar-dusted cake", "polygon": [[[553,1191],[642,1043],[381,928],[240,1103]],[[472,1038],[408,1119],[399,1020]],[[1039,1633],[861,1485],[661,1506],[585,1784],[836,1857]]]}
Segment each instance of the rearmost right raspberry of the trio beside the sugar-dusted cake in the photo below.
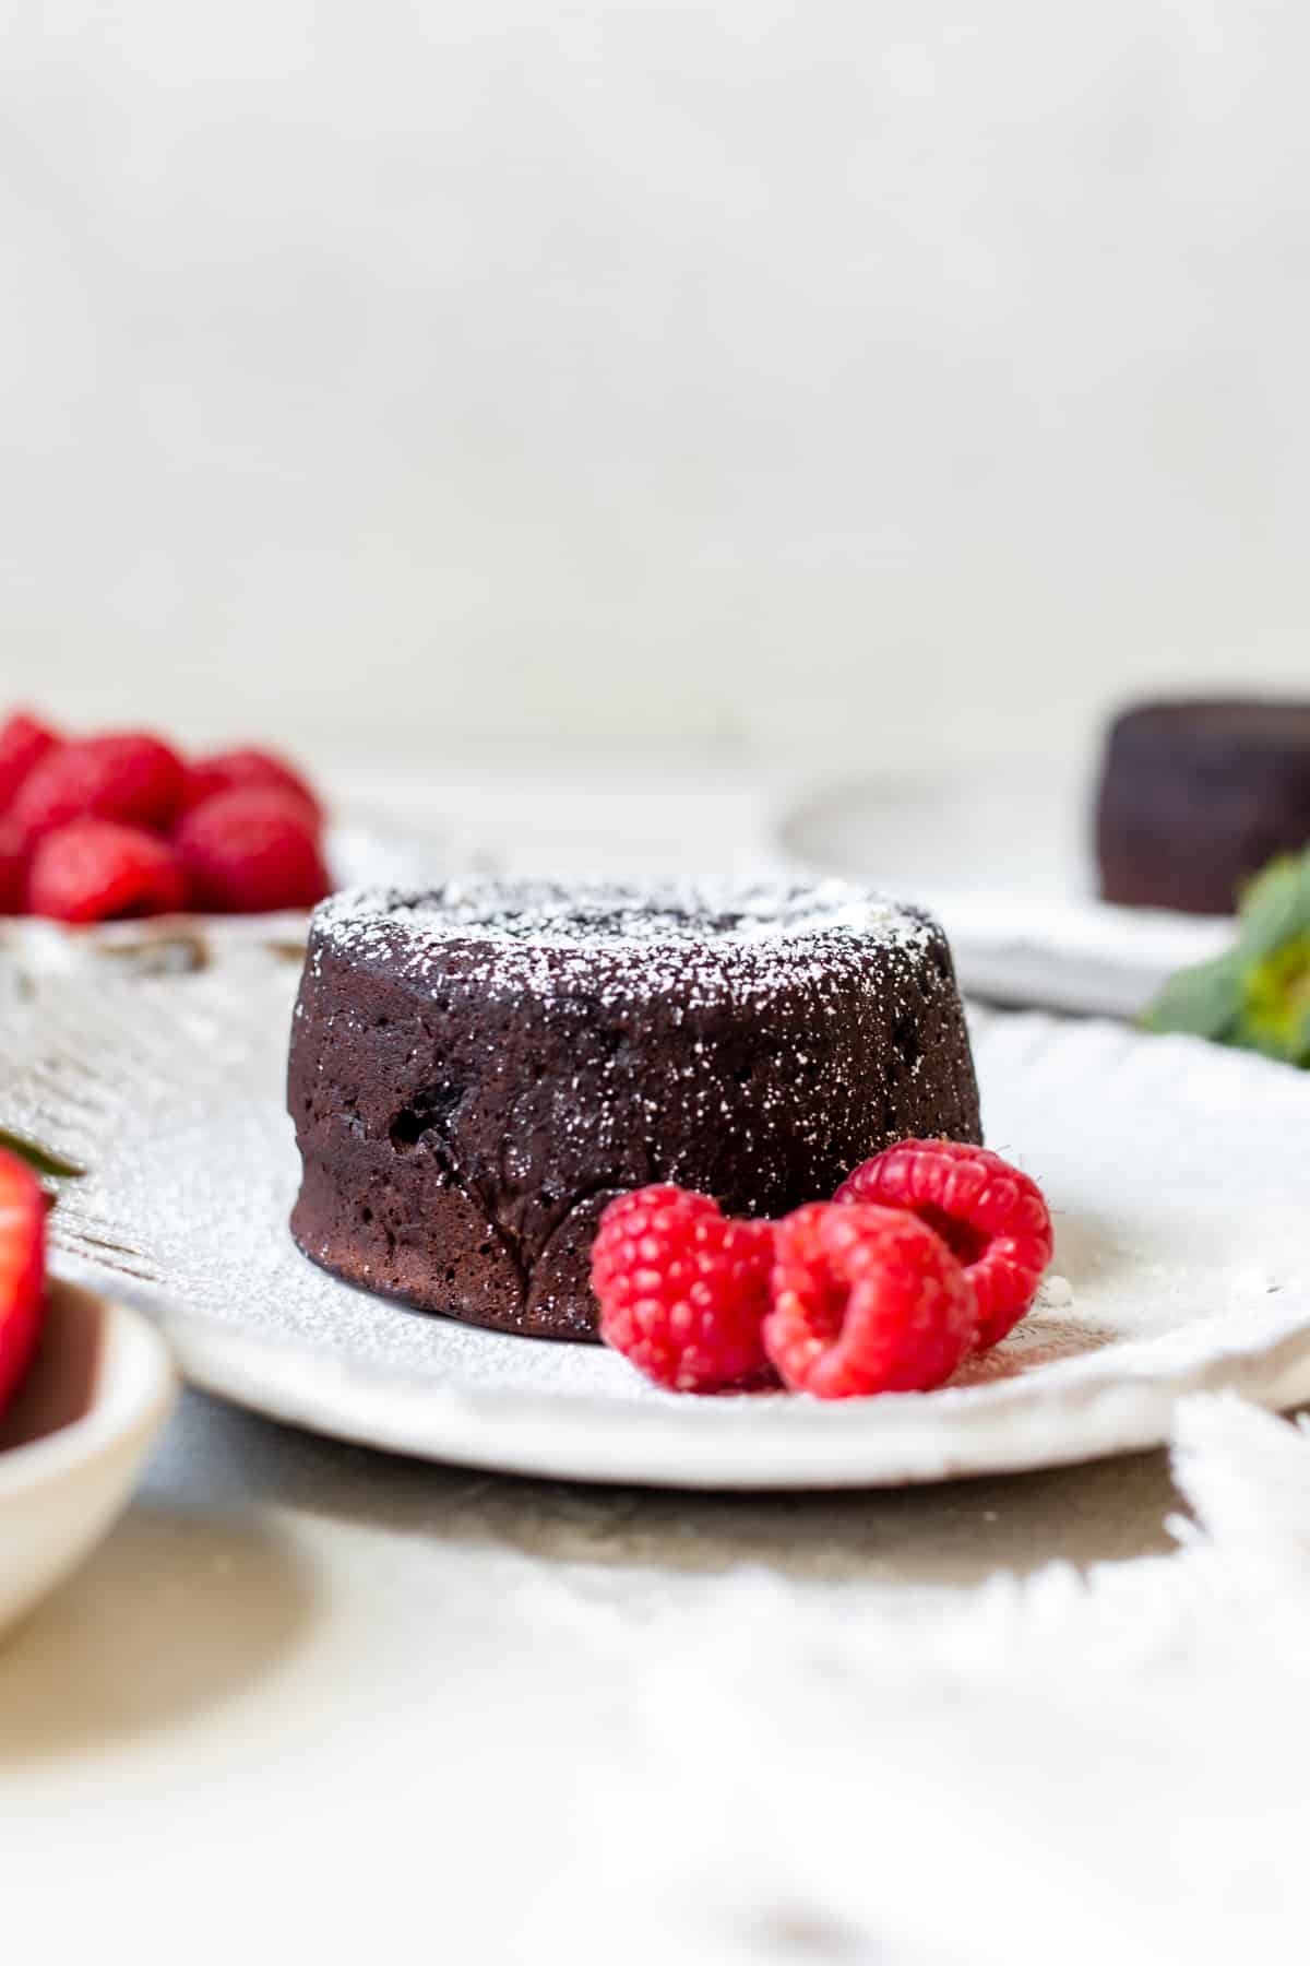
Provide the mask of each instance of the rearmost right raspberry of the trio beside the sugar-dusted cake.
{"label": "rearmost right raspberry of the trio beside the sugar-dusted cake", "polygon": [[964,1264],[978,1301],[978,1351],[1031,1307],[1051,1262],[1051,1211],[1037,1182],[986,1146],[903,1140],[843,1182],[837,1201],[913,1209]]}

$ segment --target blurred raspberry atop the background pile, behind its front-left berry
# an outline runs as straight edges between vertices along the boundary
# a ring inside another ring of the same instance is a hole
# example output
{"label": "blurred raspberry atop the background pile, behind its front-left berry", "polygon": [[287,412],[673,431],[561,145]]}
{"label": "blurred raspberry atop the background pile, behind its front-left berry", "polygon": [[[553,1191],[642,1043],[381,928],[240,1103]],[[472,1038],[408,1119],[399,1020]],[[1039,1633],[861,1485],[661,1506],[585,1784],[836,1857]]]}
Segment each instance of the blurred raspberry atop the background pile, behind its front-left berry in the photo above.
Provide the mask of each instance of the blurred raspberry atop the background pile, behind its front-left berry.
{"label": "blurred raspberry atop the background pile, behind its front-left berry", "polygon": [[163,832],[181,796],[177,751],[143,731],[122,731],[47,751],[18,792],[12,816],[33,847],[71,820],[120,820]]}

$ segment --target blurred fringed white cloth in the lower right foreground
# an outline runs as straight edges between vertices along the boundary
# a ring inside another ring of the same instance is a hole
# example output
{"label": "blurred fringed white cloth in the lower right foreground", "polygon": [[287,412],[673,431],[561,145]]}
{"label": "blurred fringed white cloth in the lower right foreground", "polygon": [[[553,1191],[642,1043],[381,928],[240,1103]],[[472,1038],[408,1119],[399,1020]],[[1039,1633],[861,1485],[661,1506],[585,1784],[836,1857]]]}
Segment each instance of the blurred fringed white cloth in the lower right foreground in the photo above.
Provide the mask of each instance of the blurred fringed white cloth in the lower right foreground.
{"label": "blurred fringed white cloth in the lower right foreground", "polygon": [[532,1956],[1304,1960],[1310,1429],[1194,1398],[1174,1469],[1174,1555],[617,1618],[642,1748]]}

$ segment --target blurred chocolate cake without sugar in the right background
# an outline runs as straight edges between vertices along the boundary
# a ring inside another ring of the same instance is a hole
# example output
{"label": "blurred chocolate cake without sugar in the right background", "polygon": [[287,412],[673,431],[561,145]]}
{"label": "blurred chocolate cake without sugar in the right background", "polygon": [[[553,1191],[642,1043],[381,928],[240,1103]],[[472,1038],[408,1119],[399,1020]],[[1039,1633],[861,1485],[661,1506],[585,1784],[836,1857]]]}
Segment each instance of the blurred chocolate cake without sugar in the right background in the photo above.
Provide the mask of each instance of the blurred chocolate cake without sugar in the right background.
{"label": "blurred chocolate cake without sugar in the right background", "polygon": [[1231,914],[1310,841],[1310,704],[1141,704],[1110,729],[1096,814],[1106,900]]}

